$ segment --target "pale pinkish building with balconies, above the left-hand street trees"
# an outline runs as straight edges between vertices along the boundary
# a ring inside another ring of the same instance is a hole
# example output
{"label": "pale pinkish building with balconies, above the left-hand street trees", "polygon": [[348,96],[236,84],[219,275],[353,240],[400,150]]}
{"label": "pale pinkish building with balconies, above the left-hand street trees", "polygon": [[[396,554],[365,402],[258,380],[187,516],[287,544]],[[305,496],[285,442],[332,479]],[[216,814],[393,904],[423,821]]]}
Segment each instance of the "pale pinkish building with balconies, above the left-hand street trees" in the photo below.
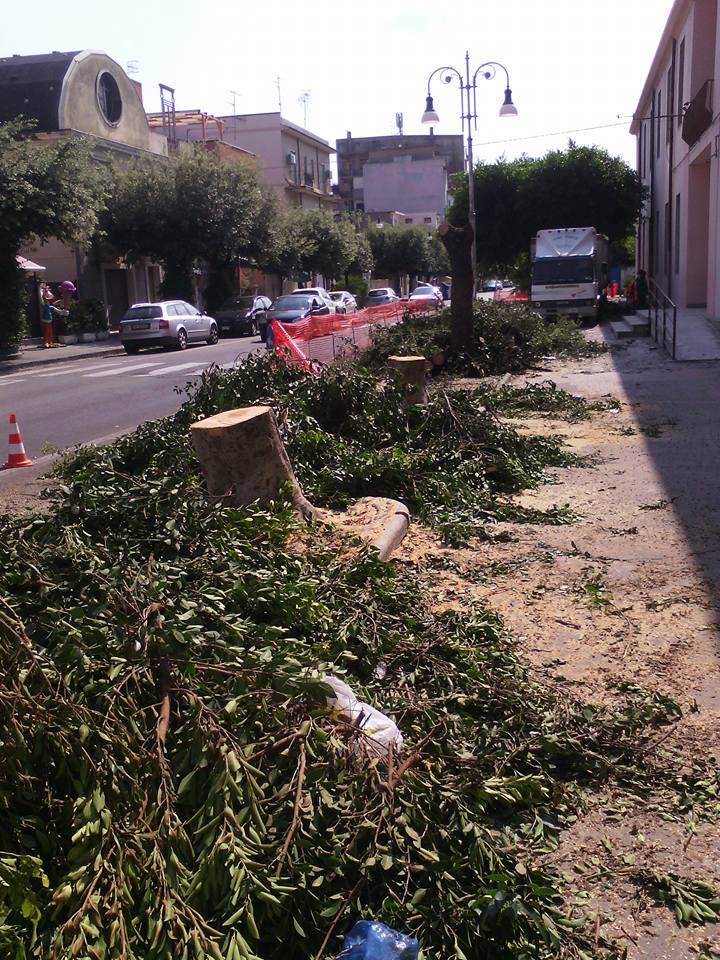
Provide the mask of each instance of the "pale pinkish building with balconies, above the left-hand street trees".
{"label": "pale pinkish building with balconies, above the left-hand street trees", "polygon": [[[151,114],[151,123],[158,115]],[[322,137],[285,120],[280,113],[247,113],[218,117],[220,124],[178,128],[178,139],[215,139],[232,144],[257,158],[261,179],[289,207],[334,212],[339,204],[333,192],[330,155],[335,151]]]}

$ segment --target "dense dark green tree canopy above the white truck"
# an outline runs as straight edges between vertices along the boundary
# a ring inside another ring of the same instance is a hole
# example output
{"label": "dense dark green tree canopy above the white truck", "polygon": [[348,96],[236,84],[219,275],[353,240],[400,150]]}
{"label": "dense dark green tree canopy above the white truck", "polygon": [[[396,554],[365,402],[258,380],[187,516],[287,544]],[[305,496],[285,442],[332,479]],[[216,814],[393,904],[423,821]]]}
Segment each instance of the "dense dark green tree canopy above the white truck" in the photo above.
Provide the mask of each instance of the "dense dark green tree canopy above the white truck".
{"label": "dense dark green tree canopy above the white truck", "polygon": [[[505,272],[530,238],[551,227],[593,226],[622,243],[632,236],[642,190],[637,173],[602,147],[479,163],[474,172],[476,255],[481,271]],[[467,220],[467,181],[457,176],[449,220]]]}

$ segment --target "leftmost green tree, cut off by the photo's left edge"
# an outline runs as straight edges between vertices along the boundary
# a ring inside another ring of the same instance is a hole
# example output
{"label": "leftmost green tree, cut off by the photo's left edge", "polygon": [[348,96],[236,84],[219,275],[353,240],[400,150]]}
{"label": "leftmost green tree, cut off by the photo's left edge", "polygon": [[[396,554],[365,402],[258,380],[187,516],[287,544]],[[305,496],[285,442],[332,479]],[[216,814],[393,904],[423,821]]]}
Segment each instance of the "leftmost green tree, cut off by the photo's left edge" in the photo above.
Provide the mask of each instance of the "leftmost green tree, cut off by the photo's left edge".
{"label": "leftmost green tree, cut off by the photo's left edge", "polygon": [[88,240],[105,195],[87,141],[40,143],[32,128],[22,118],[0,124],[0,352],[15,349],[25,332],[20,249],[51,237]]}

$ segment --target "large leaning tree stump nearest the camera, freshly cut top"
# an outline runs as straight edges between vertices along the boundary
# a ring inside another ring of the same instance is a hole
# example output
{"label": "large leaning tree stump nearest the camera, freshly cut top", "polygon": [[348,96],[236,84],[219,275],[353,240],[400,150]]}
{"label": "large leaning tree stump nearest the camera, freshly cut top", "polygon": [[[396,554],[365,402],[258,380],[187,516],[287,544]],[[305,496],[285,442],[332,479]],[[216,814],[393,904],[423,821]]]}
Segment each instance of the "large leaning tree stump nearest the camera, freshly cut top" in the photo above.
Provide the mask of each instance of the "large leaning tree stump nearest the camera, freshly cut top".
{"label": "large leaning tree stump nearest the camera, freshly cut top", "polygon": [[295,479],[270,407],[226,410],[190,427],[195,452],[207,474],[208,493],[234,506],[276,500],[290,483],[291,499],[302,517],[315,510]]}

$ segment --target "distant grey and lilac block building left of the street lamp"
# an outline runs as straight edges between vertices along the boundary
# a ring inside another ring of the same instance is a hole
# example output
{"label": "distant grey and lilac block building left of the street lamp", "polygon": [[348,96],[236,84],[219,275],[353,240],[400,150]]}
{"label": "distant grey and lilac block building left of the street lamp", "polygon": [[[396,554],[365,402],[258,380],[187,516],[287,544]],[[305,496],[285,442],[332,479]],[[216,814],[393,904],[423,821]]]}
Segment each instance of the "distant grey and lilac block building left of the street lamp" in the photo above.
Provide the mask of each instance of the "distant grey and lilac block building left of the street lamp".
{"label": "distant grey and lilac block building left of the street lamp", "polygon": [[338,189],[345,209],[371,216],[400,211],[432,229],[448,207],[448,183],[464,169],[461,136],[353,137],[336,141]]}

